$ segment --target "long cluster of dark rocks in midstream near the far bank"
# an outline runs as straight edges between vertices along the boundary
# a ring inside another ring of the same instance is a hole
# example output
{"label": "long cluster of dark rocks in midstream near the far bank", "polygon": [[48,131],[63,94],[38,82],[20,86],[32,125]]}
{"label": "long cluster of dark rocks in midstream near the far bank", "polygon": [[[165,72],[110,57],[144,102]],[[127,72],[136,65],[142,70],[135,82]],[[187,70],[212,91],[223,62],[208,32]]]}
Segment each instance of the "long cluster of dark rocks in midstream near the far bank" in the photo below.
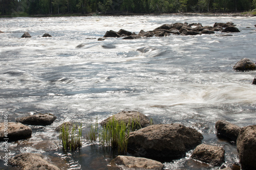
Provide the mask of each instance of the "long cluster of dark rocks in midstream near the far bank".
{"label": "long cluster of dark rocks in midstream near the far bank", "polygon": [[[173,24],[164,24],[153,31],[144,31],[141,30],[139,34],[134,32],[126,31],[126,30],[119,30],[115,32],[113,30],[106,31],[104,38],[108,37],[123,37],[123,39],[138,39],[141,37],[163,37],[170,34],[176,35],[198,35],[198,34],[215,34],[215,31],[221,32],[240,32],[240,30],[234,27],[234,23],[227,22],[227,23],[218,23],[216,22],[214,26],[202,26],[201,23],[181,23],[176,22]],[[98,40],[104,40],[99,38]]]}

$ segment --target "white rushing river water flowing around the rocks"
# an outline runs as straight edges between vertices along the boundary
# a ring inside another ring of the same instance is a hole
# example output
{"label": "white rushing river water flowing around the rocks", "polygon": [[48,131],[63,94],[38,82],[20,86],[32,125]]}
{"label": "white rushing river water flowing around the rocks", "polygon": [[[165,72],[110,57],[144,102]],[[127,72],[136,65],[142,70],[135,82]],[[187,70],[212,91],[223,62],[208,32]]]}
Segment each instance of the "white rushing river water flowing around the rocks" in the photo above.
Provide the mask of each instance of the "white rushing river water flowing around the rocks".
{"label": "white rushing river water flowing around the rocks", "polygon": [[[164,23],[234,22],[240,33],[108,38],[108,30],[135,33]],[[55,122],[32,126],[29,140],[9,142],[9,155],[41,153],[63,169],[108,169],[115,155],[83,141],[80,152],[62,152],[62,122],[82,123],[83,137],[98,118],[122,110],[140,111],[154,123],[181,123],[203,133],[203,143],[222,145],[226,165],[238,162],[236,145],[216,137],[215,123],[256,124],[255,71],[237,72],[237,61],[255,61],[255,17],[229,16],[90,16],[1,18],[0,120],[52,113]],[[247,28],[250,27],[250,28]],[[20,38],[27,31],[32,38]],[[44,33],[53,37],[42,38]],[[77,45],[80,44],[80,47]],[[3,148],[3,146],[1,145]],[[1,156],[4,151],[0,150]],[[218,169],[187,156],[166,162],[165,169]],[[0,168],[7,168],[0,160]]]}

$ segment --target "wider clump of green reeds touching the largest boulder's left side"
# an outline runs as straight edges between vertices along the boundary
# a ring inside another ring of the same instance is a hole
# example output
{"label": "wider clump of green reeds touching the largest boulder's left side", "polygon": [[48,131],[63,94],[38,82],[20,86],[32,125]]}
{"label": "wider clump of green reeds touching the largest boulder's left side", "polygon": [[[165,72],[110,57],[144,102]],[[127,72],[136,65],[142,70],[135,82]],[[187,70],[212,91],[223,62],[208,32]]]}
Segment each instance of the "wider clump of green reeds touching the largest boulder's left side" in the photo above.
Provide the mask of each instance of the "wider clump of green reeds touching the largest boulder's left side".
{"label": "wider clump of green reeds touching the largest boulder's left side", "polygon": [[127,152],[127,143],[129,133],[141,129],[138,119],[132,119],[126,124],[123,121],[109,120],[106,125],[98,132],[98,123],[96,121],[94,126],[91,126],[90,132],[87,134],[87,140],[90,142],[97,141],[97,132],[99,136],[100,147],[111,147],[117,149],[119,153]]}

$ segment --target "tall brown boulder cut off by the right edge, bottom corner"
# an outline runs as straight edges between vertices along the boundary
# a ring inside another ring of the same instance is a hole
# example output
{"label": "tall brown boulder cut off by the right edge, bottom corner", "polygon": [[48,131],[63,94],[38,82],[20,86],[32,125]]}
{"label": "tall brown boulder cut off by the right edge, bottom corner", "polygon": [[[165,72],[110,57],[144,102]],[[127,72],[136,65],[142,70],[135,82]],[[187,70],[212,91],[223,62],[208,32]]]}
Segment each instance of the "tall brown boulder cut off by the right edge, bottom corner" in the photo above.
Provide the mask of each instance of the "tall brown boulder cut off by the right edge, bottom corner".
{"label": "tall brown boulder cut off by the right edge, bottom corner", "polygon": [[256,125],[241,129],[238,135],[237,149],[241,169],[256,169]]}

